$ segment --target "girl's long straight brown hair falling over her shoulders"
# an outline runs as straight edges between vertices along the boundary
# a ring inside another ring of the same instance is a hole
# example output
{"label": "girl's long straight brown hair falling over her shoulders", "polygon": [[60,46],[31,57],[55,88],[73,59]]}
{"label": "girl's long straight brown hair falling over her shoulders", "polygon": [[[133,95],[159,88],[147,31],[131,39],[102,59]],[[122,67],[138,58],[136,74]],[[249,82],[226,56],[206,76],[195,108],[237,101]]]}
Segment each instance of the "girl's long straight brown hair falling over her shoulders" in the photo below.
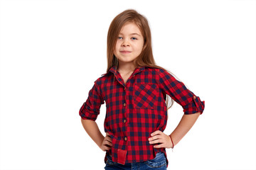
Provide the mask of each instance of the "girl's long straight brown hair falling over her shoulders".
{"label": "girl's long straight brown hair falling over her shoulders", "polygon": [[[144,47],[142,49],[142,52],[133,61],[135,68],[150,66],[150,67],[156,67],[159,69],[164,69],[163,67],[156,65],[156,62],[154,61],[152,46],[151,46],[151,31],[149,28],[148,21],[144,16],[142,16],[137,11],[133,9],[129,9],[129,10],[123,11],[122,13],[119,13],[113,19],[112,23],[110,23],[110,28],[107,33],[107,72],[110,70],[111,67],[116,66],[117,68],[118,66],[117,57],[114,56],[114,48],[117,43],[119,32],[122,26],[124,26],[124,23],[127,23],[127,22],[136,23],[144,38]],[[172,74],[169,70],[166,70],[166,71]],[[171,103],[169,103],[170,99],[171,99]],[[171,108],[173,104],[174,104],[174,99],[172,99],[169,95],[166,95],[166,109],[168,110],[169,108]]]}

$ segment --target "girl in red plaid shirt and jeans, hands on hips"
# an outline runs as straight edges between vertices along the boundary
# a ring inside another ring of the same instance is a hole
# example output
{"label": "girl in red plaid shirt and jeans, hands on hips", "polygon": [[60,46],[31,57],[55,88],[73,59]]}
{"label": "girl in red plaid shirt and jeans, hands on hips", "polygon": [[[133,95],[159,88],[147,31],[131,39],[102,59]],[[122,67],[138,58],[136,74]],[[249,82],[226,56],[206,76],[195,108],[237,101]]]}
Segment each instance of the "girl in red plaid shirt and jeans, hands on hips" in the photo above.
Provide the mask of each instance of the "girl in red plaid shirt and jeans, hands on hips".
{"label": "girl in red plaid shirt and jeans, hands on hips", "polygon": [[[168,96],[184,112],[171,135],[163,132]],[[104,102],[105,137],[95,123]],[[106,151],[105,169],[166,169],[166,148],[177,145],[204,106],[181,81],[155,64],[146,18],[134,10],[119,13],[107,35],[107,73],[95,81],[79,112],[85,131]]]}

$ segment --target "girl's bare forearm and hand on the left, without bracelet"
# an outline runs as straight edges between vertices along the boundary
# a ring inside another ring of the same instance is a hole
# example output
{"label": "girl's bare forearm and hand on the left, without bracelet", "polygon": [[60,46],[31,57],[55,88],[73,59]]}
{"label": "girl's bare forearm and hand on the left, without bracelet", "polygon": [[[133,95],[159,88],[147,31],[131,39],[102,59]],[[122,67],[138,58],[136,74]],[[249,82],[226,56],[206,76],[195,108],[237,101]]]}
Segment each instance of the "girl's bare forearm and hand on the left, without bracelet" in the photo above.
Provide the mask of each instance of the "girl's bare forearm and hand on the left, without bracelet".
{"label": "girl's bare forearm and hand on the left, without bracelet", "polygon": [[82,126],[85,128],[87,134],[92,138],[92,140],[102,149],[103,151],[109,150],[112,146],[112,140],[110,135],[107,133],[106,137],[100,132],[97,123],[93,120],[83,120],[81,118]]}

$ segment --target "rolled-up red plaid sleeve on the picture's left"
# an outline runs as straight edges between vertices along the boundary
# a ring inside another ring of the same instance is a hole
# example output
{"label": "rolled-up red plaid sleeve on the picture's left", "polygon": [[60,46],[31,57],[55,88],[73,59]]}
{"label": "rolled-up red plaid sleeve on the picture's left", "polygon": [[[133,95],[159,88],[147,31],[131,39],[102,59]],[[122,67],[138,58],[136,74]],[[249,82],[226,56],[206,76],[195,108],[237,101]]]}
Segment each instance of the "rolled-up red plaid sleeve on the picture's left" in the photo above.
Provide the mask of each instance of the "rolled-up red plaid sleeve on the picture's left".
{"label": "rolled-up red plaid sleeve on the picture's left", "polygon": [[93,120],[97,119],[97,115],[100,114],[100,106],[104,103],[104,100],[100,94],[99,85],[96,83],[90,89],[87,100],[82,104],[79,115],[82,119]]}

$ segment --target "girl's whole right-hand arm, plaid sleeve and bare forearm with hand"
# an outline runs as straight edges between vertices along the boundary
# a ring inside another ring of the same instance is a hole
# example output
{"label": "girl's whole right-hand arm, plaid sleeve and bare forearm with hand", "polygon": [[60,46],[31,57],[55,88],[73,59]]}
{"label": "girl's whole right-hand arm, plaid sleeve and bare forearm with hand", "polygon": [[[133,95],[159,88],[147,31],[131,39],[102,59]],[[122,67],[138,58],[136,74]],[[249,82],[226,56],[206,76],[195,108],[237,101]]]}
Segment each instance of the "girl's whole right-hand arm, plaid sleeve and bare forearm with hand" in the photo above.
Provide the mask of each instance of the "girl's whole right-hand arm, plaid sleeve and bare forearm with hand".
{"label": "girl's whole right-hand arm, plaid sleeve and bare forearm with hand", "polygon": [[169,95],[179,105],[182,106],[184,115],[178,123],[174,132],[169,135],[165,135],[164,132],[156,130],[152,132],[149,137],[149,144],[157,144],[154,147],[174,147],[172,146],[171,139],[176,145],[182,137],[192,128],[199,115],[203,113],[205,103],[201,101],[198,96],[193,94],[192,91],[186,88],[183,82],[176,80],[169,72],[164,69],[159,69],[159,89],[164,91],[165,94]]}

